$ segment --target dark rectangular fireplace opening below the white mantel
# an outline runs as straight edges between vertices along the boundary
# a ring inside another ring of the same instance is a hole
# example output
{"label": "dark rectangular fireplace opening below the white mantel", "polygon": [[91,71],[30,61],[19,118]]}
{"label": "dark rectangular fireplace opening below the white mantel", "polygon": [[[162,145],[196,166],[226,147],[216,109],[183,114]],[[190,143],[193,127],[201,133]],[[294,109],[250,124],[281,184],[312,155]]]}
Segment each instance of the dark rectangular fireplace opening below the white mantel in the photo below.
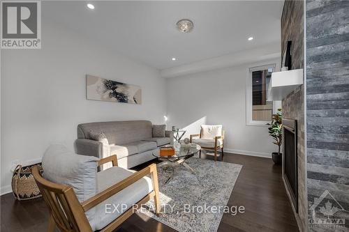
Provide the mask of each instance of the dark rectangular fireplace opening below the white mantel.
{"label": "dark rectangular fireplace opening below the white mantel", "polygon": [[283,118],[283,180],[298,212],[297,121]]}

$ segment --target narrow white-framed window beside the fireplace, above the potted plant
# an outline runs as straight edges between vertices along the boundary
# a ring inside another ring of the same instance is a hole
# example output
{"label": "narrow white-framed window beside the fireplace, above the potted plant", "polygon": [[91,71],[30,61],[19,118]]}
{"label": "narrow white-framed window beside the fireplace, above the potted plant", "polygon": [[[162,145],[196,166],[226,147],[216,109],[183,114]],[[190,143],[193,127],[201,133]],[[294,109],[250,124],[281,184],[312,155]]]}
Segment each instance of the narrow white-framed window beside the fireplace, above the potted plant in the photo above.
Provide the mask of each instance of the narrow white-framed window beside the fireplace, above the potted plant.
{"label": "narrow white-framed window beside the fireplace, above the potted plant", "polygon": [[272,120],[273,102],[267,98],[272,72],[276,64],[248,69],[246,88],[246,124],[265,125]]}

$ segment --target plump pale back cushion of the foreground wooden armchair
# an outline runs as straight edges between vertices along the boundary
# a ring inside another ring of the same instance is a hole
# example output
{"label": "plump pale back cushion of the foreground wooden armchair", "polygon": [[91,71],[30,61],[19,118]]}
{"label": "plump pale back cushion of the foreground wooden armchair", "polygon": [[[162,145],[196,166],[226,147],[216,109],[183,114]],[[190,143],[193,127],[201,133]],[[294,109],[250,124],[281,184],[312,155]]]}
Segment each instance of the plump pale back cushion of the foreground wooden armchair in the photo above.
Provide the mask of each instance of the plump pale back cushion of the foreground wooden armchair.
{"label": "plump pale back cushion of the foreground wooden armchair", "polygon": [[[86,201],[97,193],[98,158],[88,155],[77,155],[66,146],[52,145],[43,155],[43,177],[53,183],[69,185],[80,202]],[[89,210],[87,219],[94,215]]]}

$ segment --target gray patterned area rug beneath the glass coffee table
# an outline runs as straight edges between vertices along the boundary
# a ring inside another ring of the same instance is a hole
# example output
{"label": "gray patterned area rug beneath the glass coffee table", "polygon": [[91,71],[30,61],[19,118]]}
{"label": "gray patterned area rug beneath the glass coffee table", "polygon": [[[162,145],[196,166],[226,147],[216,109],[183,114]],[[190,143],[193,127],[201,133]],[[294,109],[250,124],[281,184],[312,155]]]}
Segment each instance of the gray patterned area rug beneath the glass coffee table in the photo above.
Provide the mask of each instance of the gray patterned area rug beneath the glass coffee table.
{"label": "gray patterned area rug beneath the glass coffee table", "polygon": [[177,231],[216,232],[242,165],[198,157],[191,157],[186,163],[195,174],[180,166],[168,183],[165,181],[172,170],[157,169],[161,216],[154,214],[154,200],[140,208],[140,212]]}

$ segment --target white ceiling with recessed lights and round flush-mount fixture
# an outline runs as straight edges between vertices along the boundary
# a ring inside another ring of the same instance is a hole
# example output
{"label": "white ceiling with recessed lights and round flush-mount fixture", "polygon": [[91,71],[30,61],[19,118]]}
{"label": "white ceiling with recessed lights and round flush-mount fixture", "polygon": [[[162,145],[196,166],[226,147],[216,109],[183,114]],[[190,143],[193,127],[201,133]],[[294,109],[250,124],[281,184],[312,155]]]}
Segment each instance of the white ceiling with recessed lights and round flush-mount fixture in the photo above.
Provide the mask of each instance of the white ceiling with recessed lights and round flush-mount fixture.
{"label": "white ceiling with recessed lights and round flush-mount fixture", "polygon": [[[64,24],[160,70],[279,42],[283,1],[43,1]],[[176,22],[194,22],[191,33]],[[253,36],[255,39],[248,41]],[[171,58],[176,57],[177,61]]]}

